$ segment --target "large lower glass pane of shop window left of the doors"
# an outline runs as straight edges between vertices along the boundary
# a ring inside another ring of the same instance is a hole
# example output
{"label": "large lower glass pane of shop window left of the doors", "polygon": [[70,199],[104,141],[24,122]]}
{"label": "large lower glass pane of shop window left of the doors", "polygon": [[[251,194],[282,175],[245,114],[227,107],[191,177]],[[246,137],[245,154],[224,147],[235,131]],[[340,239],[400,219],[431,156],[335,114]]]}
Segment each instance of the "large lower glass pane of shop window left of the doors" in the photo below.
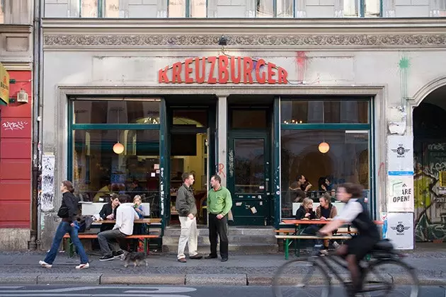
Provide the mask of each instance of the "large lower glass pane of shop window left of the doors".
{"label": "large lower glass pane of shop window left of the doors", "polygon": [[[73,182],[84,201],[107,202],[110,194],[136,194],[159,209],[158,130],[74,130]],[[113,146],[120,142],[124,151]]]}

